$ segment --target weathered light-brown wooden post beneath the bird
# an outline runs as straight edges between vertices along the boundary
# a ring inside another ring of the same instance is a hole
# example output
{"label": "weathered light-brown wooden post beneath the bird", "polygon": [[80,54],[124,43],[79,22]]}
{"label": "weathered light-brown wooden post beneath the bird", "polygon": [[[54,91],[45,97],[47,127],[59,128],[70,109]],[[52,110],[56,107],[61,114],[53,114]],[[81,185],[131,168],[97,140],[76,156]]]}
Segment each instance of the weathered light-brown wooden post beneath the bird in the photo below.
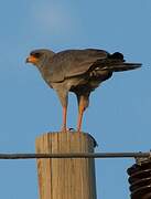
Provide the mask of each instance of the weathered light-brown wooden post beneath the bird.
{"label": "weathered light-brown wooden post beneath the bird", "polygon": [[[85,133],[47,133],[36,138],[36,153],[94,153]],[[93,158],[37,159],[40,199],[96,199]]]}

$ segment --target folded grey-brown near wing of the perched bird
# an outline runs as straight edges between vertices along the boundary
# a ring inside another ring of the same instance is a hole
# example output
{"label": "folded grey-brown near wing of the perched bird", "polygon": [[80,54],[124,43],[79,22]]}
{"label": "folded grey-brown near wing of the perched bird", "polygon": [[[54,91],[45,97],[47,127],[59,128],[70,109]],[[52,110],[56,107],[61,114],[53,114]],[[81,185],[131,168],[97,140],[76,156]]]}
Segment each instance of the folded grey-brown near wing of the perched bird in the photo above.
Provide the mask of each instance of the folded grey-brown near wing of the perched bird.
{"label": "folded grey-brown near wing of the perched bird", "polygon": [[86,73],[97,60],[104,60],[108,52],[98,49],[65,50],[55,53],[48,62],[52,82],[63,81]]}

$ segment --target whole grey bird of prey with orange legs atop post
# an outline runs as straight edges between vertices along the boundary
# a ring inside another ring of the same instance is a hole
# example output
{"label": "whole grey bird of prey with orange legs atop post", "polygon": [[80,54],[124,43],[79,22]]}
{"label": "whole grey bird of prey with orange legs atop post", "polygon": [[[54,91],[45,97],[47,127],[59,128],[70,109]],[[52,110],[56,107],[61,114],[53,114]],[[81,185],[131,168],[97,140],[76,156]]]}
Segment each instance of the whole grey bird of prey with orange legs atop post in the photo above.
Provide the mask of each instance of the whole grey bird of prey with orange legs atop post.
{"label": "whole grey bird of prey with orange legs atop post", "polygon": [[56,91],[63,107],[62,130],[66,132],[68,92],[77,96],[77,132],[82,130],[83,113],[88,107],[90,93],[114,72],[134,70],[141,63],[127,63],[119,52],[112,54],[98,49],[66,50],[55,53],[51,50],[34,50],[26,57],[34,64],[44,81]]}

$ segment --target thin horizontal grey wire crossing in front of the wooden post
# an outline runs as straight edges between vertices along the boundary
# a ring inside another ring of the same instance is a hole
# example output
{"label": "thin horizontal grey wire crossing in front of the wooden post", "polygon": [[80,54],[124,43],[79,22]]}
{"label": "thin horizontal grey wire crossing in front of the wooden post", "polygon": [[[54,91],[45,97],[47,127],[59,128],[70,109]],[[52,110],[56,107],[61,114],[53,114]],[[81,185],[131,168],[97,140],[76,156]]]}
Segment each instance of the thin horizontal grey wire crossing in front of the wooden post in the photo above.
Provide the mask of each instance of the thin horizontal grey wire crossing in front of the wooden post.
{"label": "thin horizontal grey wire crossing in front of the wooden post", "polygon": [[151,153],[0,154],[0,159],[37,158],[150,158]]}

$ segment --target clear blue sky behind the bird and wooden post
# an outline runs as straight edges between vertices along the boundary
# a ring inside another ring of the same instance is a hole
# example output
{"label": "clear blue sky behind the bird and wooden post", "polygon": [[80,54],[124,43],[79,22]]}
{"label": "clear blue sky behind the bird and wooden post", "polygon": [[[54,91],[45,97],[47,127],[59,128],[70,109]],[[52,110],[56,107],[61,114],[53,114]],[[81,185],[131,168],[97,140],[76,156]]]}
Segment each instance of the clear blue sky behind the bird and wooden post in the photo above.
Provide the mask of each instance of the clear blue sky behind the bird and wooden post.
{"label": "clear blue sky behind the bird and wooden post", "polygon": [[[62,109],[53,90],[24,60],[37,48],[120,51],[141,70],[117,73],[91,94],[84,132],[97,151],[151,148],[151,1],[1,0],[0,153],[33,153],[35,137],[58,130]],[[76,126],[69,95],[68,126]],[[56,123],[57,118],[57,123]],[[96,160],[98,199],[129,197],[127,168],[133,159]],[[0,198],[37,198],[34,160],[0,160]]]}

